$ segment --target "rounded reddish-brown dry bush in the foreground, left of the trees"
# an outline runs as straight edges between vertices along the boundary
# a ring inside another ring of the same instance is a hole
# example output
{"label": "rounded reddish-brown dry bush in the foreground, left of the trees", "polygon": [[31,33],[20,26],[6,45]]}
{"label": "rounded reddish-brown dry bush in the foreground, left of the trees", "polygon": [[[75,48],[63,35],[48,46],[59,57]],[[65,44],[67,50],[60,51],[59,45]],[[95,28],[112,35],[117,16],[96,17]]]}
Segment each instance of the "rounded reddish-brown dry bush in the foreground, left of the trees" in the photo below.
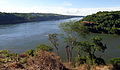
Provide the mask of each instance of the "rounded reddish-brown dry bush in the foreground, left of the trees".
{"label": "rounded reddish-brown dry bush in the foreground, left of the trees", "polygon": [[47,51],[38,51],[36,56],[27,60],[26,70],[67,70],[58,56]]}

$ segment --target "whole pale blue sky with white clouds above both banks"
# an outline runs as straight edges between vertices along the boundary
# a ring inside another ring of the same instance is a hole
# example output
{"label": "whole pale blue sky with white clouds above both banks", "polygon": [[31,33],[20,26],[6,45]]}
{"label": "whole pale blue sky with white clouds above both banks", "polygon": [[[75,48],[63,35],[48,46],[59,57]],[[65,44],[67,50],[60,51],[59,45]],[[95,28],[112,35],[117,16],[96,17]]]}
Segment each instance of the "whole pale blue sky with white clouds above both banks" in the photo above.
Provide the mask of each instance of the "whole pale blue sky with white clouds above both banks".
{"label": "whole pale blue sky with white clouds above both banks", "polygon": [[86,16],[98,11],[120,11],[120,0],[0,0],[0,12]]}

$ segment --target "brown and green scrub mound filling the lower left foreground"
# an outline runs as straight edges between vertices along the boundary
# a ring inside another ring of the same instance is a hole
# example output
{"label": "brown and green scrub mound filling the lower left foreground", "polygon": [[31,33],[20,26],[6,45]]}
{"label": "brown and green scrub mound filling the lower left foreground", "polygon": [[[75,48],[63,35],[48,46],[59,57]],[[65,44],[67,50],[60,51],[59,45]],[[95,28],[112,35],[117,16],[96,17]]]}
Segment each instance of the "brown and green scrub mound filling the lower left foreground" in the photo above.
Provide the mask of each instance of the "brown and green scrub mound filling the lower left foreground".
{"label": "brown and green scrub mound filling the lower left foreground", "polygon": [[0,51],[0,70],[68,70],[52,52],[37,51],[28,54],[9,54]]}

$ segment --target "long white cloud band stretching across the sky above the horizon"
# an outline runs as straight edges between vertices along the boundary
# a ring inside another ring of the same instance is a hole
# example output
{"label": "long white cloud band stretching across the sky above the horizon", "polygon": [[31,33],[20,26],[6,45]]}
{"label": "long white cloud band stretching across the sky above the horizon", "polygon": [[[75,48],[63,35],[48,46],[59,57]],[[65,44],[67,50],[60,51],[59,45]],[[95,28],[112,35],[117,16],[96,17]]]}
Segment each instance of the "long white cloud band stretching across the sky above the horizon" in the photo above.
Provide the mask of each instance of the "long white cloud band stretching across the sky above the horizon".
{"label": "long white cloud band stretching across the sky above the horizon", "polygon": [[120,11],[120,7],[110,8],[65,8],[65,7],[7,7],[0,8],[1,12],[35,12],[35,13],[57,13],[65,15],[81,15],[86,16],[98,11]]}

